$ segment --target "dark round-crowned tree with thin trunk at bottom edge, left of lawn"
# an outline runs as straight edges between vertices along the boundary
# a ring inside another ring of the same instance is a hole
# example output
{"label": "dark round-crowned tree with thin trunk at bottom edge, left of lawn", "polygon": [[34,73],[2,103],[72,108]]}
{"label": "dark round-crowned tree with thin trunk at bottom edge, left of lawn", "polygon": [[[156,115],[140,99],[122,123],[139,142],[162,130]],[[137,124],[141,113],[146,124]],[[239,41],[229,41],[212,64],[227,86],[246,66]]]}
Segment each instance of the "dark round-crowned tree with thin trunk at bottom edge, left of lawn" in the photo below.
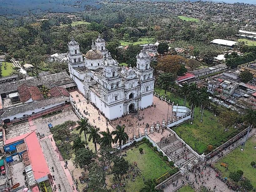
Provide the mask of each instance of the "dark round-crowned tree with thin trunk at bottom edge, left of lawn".
{"label": "dark round-crowned tree with thin trunk at bottom edge, left of lawn", "polygon": [[111,170],[112,170],[112,174],[114,174],[119,181],[118,191],[120,191],[120,184],[121,184],[122,177],[127,173],[128,168],[129,168],[129,163],[123,157],[121,158],[117,157],[114,160],[114,165]]}

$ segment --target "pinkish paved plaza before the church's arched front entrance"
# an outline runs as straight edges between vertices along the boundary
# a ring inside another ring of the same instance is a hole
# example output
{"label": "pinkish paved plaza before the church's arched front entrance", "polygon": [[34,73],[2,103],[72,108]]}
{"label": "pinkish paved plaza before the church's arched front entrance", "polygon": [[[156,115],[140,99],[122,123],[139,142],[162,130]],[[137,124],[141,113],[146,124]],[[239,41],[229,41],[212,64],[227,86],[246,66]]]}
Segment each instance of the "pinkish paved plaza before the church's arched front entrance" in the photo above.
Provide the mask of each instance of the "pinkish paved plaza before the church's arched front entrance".
{"label": "pinkish paved plaza before the church's arched front entrance", "polygon": [[[161,101],[158,99],[158,97],[153,97],[153,104],[155,106],[150,106],[144,110],[138,111],[138,114],[136,115],[127,115],[124,118],[118,118],[115,121],[111,121],[111,124],[113,127],[116,127],[117,125],[125,125],[126,126],[126,132],[129,136],[129,138],[133,138],[134,135],[139,135],[139,132],[142,134],[144,133],[144,129],[146,127],[146,124],[149,124],[149,127],[151,125],[157,124],[159,121],[160,125],[162,125],[163,119],[167,121],[171,118],[171,112],[172,112],[172,106],[169,105],[168,110],[168,104],[165,101]],[[148,129],[149,133],[149,129]],[[166,133],[169,135],[170,133]],[[166,135],[163,135],[166,136]],[[161,137],[161,131],[160,134],[155,133],[155,136],[152,135],[152,139],[155,138],[156,142],[160,141],[159,139]]]}

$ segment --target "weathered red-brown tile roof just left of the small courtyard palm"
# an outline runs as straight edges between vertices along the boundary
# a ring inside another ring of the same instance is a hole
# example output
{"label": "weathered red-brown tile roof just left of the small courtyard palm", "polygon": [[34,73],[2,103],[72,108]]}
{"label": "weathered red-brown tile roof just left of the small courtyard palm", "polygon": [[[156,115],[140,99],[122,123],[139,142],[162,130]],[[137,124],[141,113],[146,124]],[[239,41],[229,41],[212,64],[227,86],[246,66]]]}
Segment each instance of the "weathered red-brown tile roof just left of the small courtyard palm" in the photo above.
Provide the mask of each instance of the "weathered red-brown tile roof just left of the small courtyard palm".
{"label": "weathered red-brown tile roof just left of the small courtyard palm", "polygon": [[43,95],[40,92],[37,86],[28,86],[27,84],[22,84],[21,86],[17,87],[20,95],[20,101],[22,103],[32,99],[33,101],[43,100]]}

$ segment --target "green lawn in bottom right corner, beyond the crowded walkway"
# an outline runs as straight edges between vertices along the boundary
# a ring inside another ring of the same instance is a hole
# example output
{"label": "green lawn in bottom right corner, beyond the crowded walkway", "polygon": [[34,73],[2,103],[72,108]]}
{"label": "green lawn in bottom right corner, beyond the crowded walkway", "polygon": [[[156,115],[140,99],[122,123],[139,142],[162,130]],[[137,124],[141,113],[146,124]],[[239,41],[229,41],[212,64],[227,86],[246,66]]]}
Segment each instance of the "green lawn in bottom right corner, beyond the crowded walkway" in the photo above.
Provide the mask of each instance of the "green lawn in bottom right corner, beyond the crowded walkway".
{"label": "green lawn in bottom right corner, beyond the crowded walkway", "polygon": [[[256,187],[256,169],[250,164],[252,161],[256,160],[256,136],[252,136],[245,143],[244,151],[241,151],[241,146],[238,146],[228,155],[224,156],[223,159],[215,163],[215,167],[218,168],[224,175],[224,177],[229,177],[229,173],[237,170],[242,170],[244,172],[244,177],[251,180],[254,188]],[[226,171],[220,163],[224,162],[228,164],[228,170]]]}

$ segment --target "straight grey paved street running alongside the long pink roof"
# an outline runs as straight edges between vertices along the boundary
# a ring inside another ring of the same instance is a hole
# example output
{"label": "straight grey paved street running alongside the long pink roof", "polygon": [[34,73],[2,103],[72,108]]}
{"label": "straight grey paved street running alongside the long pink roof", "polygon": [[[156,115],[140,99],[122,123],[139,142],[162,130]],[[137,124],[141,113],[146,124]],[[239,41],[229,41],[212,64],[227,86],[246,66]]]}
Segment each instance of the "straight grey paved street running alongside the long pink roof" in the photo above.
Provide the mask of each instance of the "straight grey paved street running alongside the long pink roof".
{"label": "straight grey paved street running alongside the long pink roof", "polygon": [[[40,140],[40,144],[46,157],[49,169],[51,171],[51,175],[54,175],[54,184],[56,185],[57,190],[58,184],[60,184],[61,190],[59,190],[59,192],[73,192],[69,184],[68,178],[62,168],[61,162],[57,156],[57,153],[51,144],[51,140],[48,137],[45,137],[44,139]],[[54,172],[52,171],[52,167]]]}

